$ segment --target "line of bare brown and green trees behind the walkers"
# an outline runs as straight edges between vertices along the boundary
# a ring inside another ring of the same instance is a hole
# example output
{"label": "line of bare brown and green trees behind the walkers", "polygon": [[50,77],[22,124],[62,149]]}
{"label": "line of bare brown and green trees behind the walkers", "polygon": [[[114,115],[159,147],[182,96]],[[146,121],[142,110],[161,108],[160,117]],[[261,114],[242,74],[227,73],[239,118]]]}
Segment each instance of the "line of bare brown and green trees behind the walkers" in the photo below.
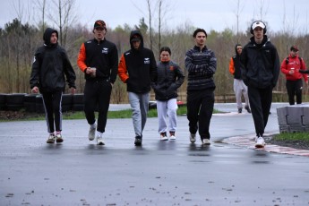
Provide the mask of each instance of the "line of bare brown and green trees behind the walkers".
{"label": "line of bare brown and green trees behind the walkers", "polygon": [[[37,47],[43,44],[43,33],[48,27],[47,24],[42,24],[39,27],[30,23],[22,24],[20,20],[14,19],[12,22],[7,22],[3,30],[0,30],[0,92],[1,93],[30,93],[30,70],[33,61],[34,52]],[[55,28],[58,30],[57,28]],[[115,29],[107,28],[107,39],[114,42],[118,49],[118,56],[130,48],[129,36],[131,30],[139,29],[144,36],[145,47],[152,47],[152,50],[159,60],[159,47],[167,46],[172,50],[172,60],[180,65],[183,72],[185,71],[185,52],[193,47],[193,30],[194,28],[188,23],[179,25],[175,30],[151,30],[144,19],[135,25],[129,26],[124,24]],[[228,72],[228,64],[231,56],[236,54],[235,45],[240,43],[243,46],[248,42],[250,37],[250,28],[245,32],[233,32],[227,28],[221,32],[216,30],[208,30],[208,38],[206,45],[217,56],[217,72],[214,79],[217,85],[215,90],[216,95],[224,95],[233,93],[233,76]],[[76,73],[76,86],[79,93],[83,92],[84,79],[83,73],[77,66],[77,56],[82,42],[93,38],[91,29],[80,24],[67,26],[62,30],[62,47],[67,50],[68,56],[73,64]],[[268,32],[268,37],[271,42],[277,47],[279,58],[281,61],[288,56],[289,47],[298,45],[300,48],[299,56],[306,60],[309,57],[308,35],[289,35],[288,31]],[[65,37],[65,38],[64,38]],[[59,41],[60,43],[60,41]],[[285,76],[280,73],[279,82],[274,90],[286,92]],[[186,82],[178,90],[185,94]],[[307,88],[305,88],[307,89]],[[304,91],[305,94],[307,90]],[[182,99],[185,101],[184,97]],[[112,91],[112,103],[128,102],[126,87],[123,82],[117,78]]]}

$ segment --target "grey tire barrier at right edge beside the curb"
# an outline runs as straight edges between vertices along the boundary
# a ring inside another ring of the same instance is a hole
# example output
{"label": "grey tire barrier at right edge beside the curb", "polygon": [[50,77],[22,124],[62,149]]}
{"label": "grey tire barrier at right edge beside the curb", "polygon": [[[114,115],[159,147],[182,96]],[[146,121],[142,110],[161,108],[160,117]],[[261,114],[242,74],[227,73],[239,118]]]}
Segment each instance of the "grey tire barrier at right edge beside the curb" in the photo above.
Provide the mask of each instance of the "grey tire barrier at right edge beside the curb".
{"label": "grey tire barrier at right edge beside the curb", "polygon": [[279,132],[309,132],[309,106],[296,105],[277,108]]}

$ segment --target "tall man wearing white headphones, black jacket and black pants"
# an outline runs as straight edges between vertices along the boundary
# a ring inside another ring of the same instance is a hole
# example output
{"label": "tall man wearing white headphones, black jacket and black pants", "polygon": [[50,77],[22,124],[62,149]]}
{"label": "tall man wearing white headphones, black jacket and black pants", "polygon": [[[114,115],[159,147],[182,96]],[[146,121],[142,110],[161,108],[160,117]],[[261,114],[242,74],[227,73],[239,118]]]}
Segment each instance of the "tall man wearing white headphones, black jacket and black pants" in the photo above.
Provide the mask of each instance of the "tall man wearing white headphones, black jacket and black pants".
{"label": "tall man wearing white headphones, black jacket and black pants", "polygon": [[262,21],[253,21],[250,38],[240,56],[244,64],[243,81],[248,87],[248,96],[255,126],[255,147],[265,145],[264,129],[270,116],[272,90],[279,78],[280,64],[277,48],[270,42],[266,25]]}

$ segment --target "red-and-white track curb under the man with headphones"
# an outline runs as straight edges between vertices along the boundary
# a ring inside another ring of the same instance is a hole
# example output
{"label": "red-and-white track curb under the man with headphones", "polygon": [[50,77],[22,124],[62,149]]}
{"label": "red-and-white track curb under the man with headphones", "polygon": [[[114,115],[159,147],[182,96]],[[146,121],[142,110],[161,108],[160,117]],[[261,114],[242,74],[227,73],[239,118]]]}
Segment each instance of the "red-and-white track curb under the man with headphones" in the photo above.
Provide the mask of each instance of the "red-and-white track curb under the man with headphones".
{"label": "red-and-white track curb under the man with headphones", "polygon": [[[265,133],[264,136],[271,136],[273,134],[275,133]],[[309,157],[309,150],[298,150],[295,148],[283,147],[275,144],[266,144],[264,148],[255,148],[254,139],[255,136],[253,134],[248,134],[244,136],[228,137],[227,139],[222,140],[222,142],[253,150],[264,150],[273,153]]]}

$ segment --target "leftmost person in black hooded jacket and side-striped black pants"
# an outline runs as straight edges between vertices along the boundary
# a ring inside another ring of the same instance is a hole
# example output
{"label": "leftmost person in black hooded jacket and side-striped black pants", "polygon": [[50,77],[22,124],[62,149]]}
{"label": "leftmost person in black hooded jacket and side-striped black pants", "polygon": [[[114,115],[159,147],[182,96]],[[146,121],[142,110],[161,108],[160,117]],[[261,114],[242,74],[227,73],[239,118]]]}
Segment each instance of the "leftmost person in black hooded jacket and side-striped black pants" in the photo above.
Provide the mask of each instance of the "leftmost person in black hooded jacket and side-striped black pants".
{"label": "leftmost person in black hooded jacket and side-striped black pants", "polygon": [[39,47],[34,55],[30,88],[33,93],[40,91],[43,96],[49,133],[47,143],[54,143],[55,140],[63,142],[61,100],[65,89],[65,77],[71,93],[74,94],[76,76],[64,47],[58,45],[58,32],[47,28],[43,39],[44,46]]}

